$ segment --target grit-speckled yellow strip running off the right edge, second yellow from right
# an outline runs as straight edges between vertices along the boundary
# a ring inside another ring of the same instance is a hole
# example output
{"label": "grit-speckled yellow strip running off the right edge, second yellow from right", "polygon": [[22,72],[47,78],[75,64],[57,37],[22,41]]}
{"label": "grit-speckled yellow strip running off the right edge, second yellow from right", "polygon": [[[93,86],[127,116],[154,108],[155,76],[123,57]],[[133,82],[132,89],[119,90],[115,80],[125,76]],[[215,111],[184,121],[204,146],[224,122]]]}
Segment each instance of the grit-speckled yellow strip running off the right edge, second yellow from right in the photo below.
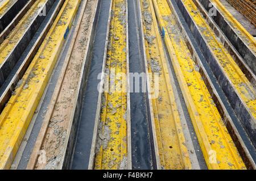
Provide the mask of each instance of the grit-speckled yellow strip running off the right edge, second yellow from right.
{"label": "grit-speckled yellow strip running off the right edge, second yellow from right", "polygon": [[196,5],[192,0],[182,0],[184,6],[191,15],[193,21],[198,27],[201,35],[207,41],[209,48],[214,53],[218,64],[221,65],[221,69],[224,71],[226,77],[230,80],[238,95],[242,99],[243,103],[247,106],[249,112],[254,117],[254,123],[256,124],[256,90],[250,81],[243,74],[242,70],[233,60],[228,50],[222,45],[221,41],[217,38],[213,30],[209,27],[203,16],[197,11]]}

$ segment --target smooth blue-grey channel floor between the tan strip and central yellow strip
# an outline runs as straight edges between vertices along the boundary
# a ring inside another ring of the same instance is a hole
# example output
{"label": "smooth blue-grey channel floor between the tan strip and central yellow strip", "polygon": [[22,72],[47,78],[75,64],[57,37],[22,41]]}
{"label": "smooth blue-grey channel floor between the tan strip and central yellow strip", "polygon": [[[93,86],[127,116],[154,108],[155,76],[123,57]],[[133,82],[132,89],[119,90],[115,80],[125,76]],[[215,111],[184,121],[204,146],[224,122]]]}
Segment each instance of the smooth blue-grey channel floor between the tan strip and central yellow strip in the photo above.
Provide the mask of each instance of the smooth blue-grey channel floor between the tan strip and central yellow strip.
{"label": "smooth blue-grey channel floor between the tan strip and central yellow strip", "polygon": [[95,28],[95,34],[97,36],[94,38],[92,59],[89,67],[89,75],[86,79],[85,92],[81,96],[81,114],[77,128],[76,145],[71,169],[88,169],[89,165],[99,95],[97,86],[100,80],[98,80],[97,77],[102,71],[110,2],[111,1],[100,2],[100,12]]}

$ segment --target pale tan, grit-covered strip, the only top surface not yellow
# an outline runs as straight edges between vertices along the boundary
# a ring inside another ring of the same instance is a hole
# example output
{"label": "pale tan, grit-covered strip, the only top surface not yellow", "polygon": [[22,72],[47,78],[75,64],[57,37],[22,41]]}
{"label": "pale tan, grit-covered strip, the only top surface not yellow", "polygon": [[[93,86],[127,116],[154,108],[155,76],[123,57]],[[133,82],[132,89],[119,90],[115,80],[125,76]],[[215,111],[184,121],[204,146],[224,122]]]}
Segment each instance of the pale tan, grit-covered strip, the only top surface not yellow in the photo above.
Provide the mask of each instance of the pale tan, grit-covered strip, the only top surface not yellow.
{"label": "pale tan, grit-covered strip, the only top surface not yellow", "polygon": [[[79,88],[80,74],[82,70],[86,47],[88,46],[89,29],[92,26],[96,2],[88,0],[84,15],[82,16],[80,29],[77,33],[75,45],[71,53],[69,64],[60,87],[60,94],[49,121],[46,137],[43,140],[41,150],[46,151],[46,164],[36,163],[35,169],[59,169],[61,159],[65,154],[65,143],[68,141],[68,127],[71,124],[72,110],[75,107],[73,100]],[[63,23],[63,22],[59,22]]]}

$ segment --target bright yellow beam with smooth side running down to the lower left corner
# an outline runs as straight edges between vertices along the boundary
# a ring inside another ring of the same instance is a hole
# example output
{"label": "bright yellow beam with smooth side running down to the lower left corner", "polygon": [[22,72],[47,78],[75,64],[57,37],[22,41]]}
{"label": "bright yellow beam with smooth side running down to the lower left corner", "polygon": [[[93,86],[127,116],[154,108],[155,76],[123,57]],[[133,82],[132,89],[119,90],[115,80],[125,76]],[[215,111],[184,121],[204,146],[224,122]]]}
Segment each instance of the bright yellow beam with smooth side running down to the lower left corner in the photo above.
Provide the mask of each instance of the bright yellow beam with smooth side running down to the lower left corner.
{"label": "bright yellow beam with smooth side running down to the lower left corner", "polygon": [[67,0],[55,19],[15,95],[0,115],[0,169],[9,169],[64,44],[80,1]]}

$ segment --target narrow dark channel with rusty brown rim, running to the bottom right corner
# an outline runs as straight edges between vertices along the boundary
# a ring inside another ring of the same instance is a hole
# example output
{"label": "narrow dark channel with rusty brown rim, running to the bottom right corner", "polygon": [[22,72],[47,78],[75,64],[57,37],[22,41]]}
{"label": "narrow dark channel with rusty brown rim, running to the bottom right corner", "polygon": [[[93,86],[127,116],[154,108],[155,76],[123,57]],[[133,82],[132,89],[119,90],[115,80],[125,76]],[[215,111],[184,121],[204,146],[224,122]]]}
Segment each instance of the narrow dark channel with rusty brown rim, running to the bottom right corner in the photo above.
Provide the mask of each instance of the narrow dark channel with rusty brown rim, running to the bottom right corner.
{"label": "narrow dark channel with rusty brown rim, running to the bottom right corner", "polygon": [[174,17],[182,35],[184,36],[185,43],[187,44],[191,54],[193,54],[196,65],[199,65],[200,67],[200,74],[204,79],[210,95],[212,95],[214,103],[226,124],[226,128],[228,129],[232,140],[236,144],[243,162],[247,169],[255,169],[256,149],[251,143],[249,136],[247,136],[245,128],[243,128],[241,121],[237,118],[236,113],[224,94],[224,91],[221,89],[220,85],[218,85],[218,81],[210,69],[207,59],[204,57],[195,37],[193,37],[192,32],[189,30],[189,24],[187,24],[175,0],[167,2],[175,14]]}

